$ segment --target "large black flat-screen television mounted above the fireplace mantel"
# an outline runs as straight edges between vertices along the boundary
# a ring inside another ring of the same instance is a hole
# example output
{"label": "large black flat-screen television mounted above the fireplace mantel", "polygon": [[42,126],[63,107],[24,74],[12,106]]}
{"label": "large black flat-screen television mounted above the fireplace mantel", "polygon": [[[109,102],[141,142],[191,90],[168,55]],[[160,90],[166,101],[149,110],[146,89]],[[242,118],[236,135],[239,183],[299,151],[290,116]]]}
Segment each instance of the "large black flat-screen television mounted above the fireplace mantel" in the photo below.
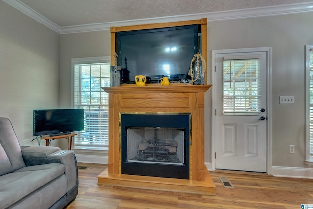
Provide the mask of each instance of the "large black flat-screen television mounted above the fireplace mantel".
{"label": "large black flat-screen television mounted above the fireplace mantel", "polygon": [[116,40],[121,83],[134,83],[136,75],[147,83],[186,79],[198,52],[198,25],[117,32]]}

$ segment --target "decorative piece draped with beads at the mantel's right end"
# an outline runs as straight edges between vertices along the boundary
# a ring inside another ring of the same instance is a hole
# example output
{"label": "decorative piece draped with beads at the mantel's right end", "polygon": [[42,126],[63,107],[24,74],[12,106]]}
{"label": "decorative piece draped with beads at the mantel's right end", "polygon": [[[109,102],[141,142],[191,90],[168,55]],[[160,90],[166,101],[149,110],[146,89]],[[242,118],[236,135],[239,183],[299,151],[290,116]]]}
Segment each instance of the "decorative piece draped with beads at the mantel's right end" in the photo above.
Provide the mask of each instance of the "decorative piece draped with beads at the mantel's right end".
{"label": "decorative piece draped with beads at the mantel's right end", "polygon": [[[200,60],[199,60],[200,57]],[[196,60],[196,65],[193,66],[193,63]],[[191,83],[195,85],[199,84],[206,84],[205,83],[205,69],[206,69],[206,62],[205,59],[202,57],[200,52],[194,55],[190,62],[190,70],[188,72],[188,75],[191,76]]]}

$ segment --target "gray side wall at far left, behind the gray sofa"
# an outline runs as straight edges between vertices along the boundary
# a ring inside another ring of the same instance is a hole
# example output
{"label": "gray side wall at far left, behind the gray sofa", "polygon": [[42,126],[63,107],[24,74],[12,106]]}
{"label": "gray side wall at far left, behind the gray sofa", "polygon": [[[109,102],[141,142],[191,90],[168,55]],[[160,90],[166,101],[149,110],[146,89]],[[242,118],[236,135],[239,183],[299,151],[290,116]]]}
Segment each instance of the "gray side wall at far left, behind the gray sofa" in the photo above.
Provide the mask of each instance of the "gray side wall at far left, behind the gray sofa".
{"label": "gray side wall at far left, behind the gray sofa", "polygon": [[59,107],[59,39],[0,0],[0,117],[22,145],[33,139],[33,109]]}

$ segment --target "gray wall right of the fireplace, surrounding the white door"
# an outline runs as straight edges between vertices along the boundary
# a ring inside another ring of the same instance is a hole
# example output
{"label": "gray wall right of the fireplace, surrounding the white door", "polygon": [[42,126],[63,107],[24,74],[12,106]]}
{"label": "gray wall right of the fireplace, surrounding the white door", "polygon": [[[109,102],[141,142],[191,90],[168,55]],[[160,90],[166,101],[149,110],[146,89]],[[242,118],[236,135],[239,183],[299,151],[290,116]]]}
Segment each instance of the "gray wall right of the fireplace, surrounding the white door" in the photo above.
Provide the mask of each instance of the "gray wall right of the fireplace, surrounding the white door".
{"label": "gray wall right of the fireplace, surrounding the white door", "polygon": [[[208,23],[208,51],[272,47],[273,166],[306,167],[305,45],[313,44],[312,20],[313,13],[304,13]],[[295,104],[279,104],[283,95],[294,95]]]}

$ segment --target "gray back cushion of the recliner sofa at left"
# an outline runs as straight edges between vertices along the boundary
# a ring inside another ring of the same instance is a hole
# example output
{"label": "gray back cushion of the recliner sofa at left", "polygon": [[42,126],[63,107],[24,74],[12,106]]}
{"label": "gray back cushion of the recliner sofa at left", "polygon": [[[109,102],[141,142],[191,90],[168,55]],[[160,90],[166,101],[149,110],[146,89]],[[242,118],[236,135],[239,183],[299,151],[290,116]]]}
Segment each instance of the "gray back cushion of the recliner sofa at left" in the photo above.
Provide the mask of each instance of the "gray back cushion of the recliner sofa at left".
{"label": "gray back cushion of the recliner sofa at left", "polygon": [[22,167],[25,167],[25,163],[11,121],[0,117],[0,175]]}

